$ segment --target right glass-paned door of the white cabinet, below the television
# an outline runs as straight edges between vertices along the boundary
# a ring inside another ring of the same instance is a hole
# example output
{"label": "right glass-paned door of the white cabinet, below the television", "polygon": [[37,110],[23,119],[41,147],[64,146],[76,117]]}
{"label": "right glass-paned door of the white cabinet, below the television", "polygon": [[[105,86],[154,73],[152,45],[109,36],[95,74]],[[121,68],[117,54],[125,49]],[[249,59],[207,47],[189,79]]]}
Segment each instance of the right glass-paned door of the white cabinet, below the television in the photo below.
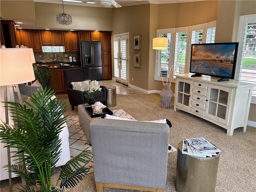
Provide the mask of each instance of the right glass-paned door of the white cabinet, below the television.
{"label": "right glass-paned door of the white cabinet, below the television", "polygon": [[223,90],[209,86],[205,116],[227,125],[231,94],[232,88]]}

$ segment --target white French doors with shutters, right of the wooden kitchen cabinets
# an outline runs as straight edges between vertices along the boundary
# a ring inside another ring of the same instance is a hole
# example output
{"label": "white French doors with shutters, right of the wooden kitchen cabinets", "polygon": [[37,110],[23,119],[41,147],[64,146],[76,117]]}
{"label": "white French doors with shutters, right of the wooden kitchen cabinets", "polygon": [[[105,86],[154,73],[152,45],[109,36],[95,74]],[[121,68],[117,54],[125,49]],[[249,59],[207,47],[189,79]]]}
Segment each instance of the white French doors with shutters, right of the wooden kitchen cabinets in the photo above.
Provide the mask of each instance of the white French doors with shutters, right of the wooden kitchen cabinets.
{"label": "white French doors with shutters, right of the wooden kitchen cabinets", "polygon": [[129,34],[114,35],[114,77],[128,85],[128,37]]}

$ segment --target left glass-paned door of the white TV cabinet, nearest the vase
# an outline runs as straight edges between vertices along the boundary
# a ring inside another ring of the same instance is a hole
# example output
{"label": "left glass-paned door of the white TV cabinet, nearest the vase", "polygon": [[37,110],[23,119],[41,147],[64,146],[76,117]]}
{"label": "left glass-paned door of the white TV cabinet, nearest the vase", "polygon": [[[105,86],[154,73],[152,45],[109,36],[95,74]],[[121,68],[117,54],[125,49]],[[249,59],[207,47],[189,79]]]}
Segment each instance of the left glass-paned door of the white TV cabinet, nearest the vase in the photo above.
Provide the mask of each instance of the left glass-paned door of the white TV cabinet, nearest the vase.
{"label": "left glass-paned door of the white TV cabinet, nearest the vase", "polygon": [[190,110],[190,88],[192,82],[190,81],[178,81],[177,82],[177,98],[176,98],[176,105],[182,106],[187,110]]}

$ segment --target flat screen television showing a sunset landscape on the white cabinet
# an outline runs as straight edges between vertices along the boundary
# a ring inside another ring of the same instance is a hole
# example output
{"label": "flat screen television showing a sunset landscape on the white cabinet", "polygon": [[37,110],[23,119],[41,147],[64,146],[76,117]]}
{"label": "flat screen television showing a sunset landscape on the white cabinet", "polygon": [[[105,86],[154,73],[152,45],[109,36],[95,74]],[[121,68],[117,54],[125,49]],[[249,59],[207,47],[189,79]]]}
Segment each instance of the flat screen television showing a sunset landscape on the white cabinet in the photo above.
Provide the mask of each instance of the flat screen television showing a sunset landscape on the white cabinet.
{"label": "flat screen television showing a sunset landscape on the white cabinet", "polygon": [[238,42],[192,44],[189,72],[220,77],[218,81],[234,79],[237,52]]}

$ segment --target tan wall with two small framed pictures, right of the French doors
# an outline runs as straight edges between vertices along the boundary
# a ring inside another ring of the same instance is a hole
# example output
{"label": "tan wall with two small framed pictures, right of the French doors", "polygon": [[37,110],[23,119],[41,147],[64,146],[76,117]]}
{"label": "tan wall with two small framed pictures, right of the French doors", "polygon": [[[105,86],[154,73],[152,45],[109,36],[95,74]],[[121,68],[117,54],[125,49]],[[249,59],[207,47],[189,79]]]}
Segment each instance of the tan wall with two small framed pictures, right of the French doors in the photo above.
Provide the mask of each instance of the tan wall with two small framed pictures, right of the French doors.
{"label": "tan wall with two small framed pictures, right of the French doors", "polygon": [[[112,35],[129,32],[129,82],[134,86],[148,90],[150,28],[150,4],[126,6],[113,10]],[[133,49],[133,36],[141,34],[141,50]],[[141,68],[133,66],[133,53],[141,53]],[[113,61],[112,61],[113,63]],[[113,67],[113,66],[112,66]],[[112,69],[113,70],[113,69]],[[114,76],[114,72],[113,72]],[[133,81],[132,81],[133,78]]]}

